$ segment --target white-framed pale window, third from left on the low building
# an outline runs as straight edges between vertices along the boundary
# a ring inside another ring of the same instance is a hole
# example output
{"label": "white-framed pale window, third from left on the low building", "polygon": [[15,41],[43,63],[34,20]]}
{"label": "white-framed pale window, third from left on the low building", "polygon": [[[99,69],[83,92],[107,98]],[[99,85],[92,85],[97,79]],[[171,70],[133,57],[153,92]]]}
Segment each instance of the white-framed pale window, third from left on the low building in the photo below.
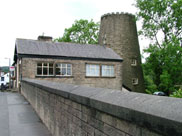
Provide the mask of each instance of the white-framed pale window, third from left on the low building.
{"label": "white-framed pale window, third from left on the low building", "polygon": [[[86,64],[85,66],[86,66],[86,68],[85,68],[86,69],[86,77],[100,77],[100,65],[99,64]],[[97,69],[97,68],[99,68],[99,69]],[[96,75],[96,74],[91,75],[92,70],[95,71],[94,73],[98,72],[98,75]],[[88,71],[89,71],[89,73],[88,73]]]}

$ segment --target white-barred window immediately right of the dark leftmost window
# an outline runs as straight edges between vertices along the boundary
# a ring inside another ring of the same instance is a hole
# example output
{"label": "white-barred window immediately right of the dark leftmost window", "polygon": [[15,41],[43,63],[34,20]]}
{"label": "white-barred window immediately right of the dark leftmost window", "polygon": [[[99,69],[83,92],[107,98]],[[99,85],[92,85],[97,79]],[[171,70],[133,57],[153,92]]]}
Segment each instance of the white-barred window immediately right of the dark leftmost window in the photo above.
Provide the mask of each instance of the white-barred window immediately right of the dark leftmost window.
{"label": "white-barred window immediately right of the dark leftmost window", "polygon": [[56,64],[56,76],[71,76],[72,75],[72,65],[58,63]]}

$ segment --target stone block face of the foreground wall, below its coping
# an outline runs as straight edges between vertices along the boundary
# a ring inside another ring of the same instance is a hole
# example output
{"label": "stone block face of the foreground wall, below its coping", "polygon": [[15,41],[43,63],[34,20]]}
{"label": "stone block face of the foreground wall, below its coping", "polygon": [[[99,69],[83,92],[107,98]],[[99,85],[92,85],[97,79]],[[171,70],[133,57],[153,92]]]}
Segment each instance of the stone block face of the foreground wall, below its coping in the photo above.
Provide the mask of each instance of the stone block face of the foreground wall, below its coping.
{"label": "stone block face of the foreground wall, below its coping", "polygon": [[22,94],[53,136],[160,136],[31,84],[22,82]]}

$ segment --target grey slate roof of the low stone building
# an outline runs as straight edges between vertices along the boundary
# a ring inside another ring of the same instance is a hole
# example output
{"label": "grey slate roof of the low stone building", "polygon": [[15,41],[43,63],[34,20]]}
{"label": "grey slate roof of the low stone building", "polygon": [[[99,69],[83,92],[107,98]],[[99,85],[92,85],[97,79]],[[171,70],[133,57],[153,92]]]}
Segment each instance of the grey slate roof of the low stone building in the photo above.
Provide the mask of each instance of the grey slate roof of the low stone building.
{"label": "grey slate roof of the low stone building", "polygon": [[16,51],[18,55],[122,60],[112,49],[91,44],[16,39]]}

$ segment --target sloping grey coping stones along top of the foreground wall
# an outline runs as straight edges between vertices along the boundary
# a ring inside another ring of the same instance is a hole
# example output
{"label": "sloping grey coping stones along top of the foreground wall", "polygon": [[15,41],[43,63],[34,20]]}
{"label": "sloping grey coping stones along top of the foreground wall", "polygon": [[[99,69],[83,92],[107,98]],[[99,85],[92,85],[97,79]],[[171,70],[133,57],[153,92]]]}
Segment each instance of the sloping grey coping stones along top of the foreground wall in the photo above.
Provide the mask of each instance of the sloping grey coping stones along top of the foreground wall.
{"label": "sloping grey coping stones along top of the foreground wall", "polygon": [[24,78],[41,88],[166,136],[182,135],[182,100]]}

